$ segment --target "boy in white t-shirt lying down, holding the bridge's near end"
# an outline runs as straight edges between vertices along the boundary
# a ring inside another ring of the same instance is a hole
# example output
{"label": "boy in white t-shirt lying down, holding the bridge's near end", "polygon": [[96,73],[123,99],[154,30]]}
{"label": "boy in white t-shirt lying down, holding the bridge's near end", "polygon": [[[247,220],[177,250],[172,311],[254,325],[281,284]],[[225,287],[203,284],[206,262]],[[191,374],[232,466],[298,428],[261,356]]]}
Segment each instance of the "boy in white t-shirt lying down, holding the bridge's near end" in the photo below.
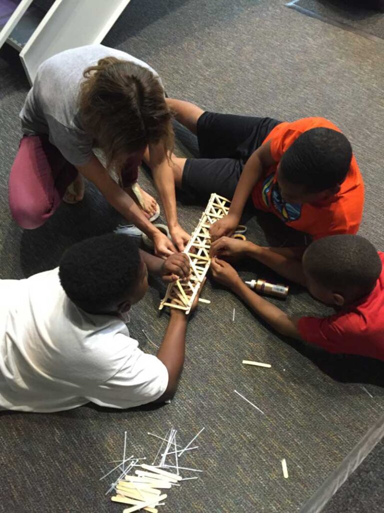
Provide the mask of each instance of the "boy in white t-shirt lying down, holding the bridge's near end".
{"label": "boy in white t-shirt lying down, holding the bridge's near end", "polygon": [[51,412],[89,401],[130,408],[172,398],[188,316],[172,309],[157,356],[141,351],[123,322],[148,272],[184,278],[188,259],[161,260],[113,233],[75,244],[56,269],[0,280],[0,409]]}

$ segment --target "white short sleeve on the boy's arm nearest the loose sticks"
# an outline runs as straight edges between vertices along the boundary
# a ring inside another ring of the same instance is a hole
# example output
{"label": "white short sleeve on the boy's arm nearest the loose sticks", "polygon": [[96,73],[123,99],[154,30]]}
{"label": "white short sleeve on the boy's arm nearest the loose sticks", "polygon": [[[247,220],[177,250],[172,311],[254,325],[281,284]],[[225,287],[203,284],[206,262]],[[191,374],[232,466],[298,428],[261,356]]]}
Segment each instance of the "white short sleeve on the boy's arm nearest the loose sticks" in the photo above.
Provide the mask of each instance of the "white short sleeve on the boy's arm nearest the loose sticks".
{"label": "white short sleeve on the boy's arm nearest the loose sticks", "polygon": [[[87,391],[86,399],[110,408],[132,408],[156,401],[168,386],[165,365],[156,356],[139,349],[136,340],[119,333],[114,337],[114,345],[116,339],[120,342],[120,356],[121,345],[126,347],[126,358],[111,378]],[[114,356],[111,360],[116,362]]]}

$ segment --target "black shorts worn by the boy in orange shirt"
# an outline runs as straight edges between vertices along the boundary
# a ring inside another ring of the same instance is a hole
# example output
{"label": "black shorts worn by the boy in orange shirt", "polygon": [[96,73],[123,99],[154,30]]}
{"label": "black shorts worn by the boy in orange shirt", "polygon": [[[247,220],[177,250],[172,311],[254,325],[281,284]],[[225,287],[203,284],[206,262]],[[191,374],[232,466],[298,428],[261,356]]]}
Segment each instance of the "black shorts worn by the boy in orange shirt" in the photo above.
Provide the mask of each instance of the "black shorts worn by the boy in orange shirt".
{"label": "black shorts worn by the boy in orange shirt", "polygon": [[206,200],[232,199],[245,163],[281,121],[271,117],[204,112],[197,122],[200,159],[187,159],[181,189]]}

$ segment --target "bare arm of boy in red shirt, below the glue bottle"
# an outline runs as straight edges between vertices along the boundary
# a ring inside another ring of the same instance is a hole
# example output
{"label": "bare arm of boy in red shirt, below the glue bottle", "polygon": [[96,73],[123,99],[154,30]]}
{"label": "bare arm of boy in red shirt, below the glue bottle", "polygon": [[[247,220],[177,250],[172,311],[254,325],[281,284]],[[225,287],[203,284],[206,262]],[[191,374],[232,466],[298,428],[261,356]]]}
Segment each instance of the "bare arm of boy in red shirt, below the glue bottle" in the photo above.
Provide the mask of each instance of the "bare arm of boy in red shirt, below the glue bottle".
{"label": "bare arm of boy in red shirt, below the glue bottle", "polygon": [[289,317],[283,310],[250,290],[230,264],[223,260],[212,259],[211,271],[215,280],[239,295],[272,328],[286,337],[302,340],[297,329],[298,318]]}

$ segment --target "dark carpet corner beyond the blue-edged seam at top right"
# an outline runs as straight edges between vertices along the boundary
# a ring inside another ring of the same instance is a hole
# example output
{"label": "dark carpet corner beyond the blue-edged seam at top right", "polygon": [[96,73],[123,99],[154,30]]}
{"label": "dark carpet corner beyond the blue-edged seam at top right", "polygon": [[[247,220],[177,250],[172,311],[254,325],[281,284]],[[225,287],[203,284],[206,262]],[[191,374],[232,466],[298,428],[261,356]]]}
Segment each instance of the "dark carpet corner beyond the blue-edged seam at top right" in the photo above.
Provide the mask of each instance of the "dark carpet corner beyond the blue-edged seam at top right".
{"label": "dark carpet corner beyond the blue-edged seam at top right", "polygon": [[377,0],[293,0],[289,7],[323,21],[384,39],[384,3]]}

